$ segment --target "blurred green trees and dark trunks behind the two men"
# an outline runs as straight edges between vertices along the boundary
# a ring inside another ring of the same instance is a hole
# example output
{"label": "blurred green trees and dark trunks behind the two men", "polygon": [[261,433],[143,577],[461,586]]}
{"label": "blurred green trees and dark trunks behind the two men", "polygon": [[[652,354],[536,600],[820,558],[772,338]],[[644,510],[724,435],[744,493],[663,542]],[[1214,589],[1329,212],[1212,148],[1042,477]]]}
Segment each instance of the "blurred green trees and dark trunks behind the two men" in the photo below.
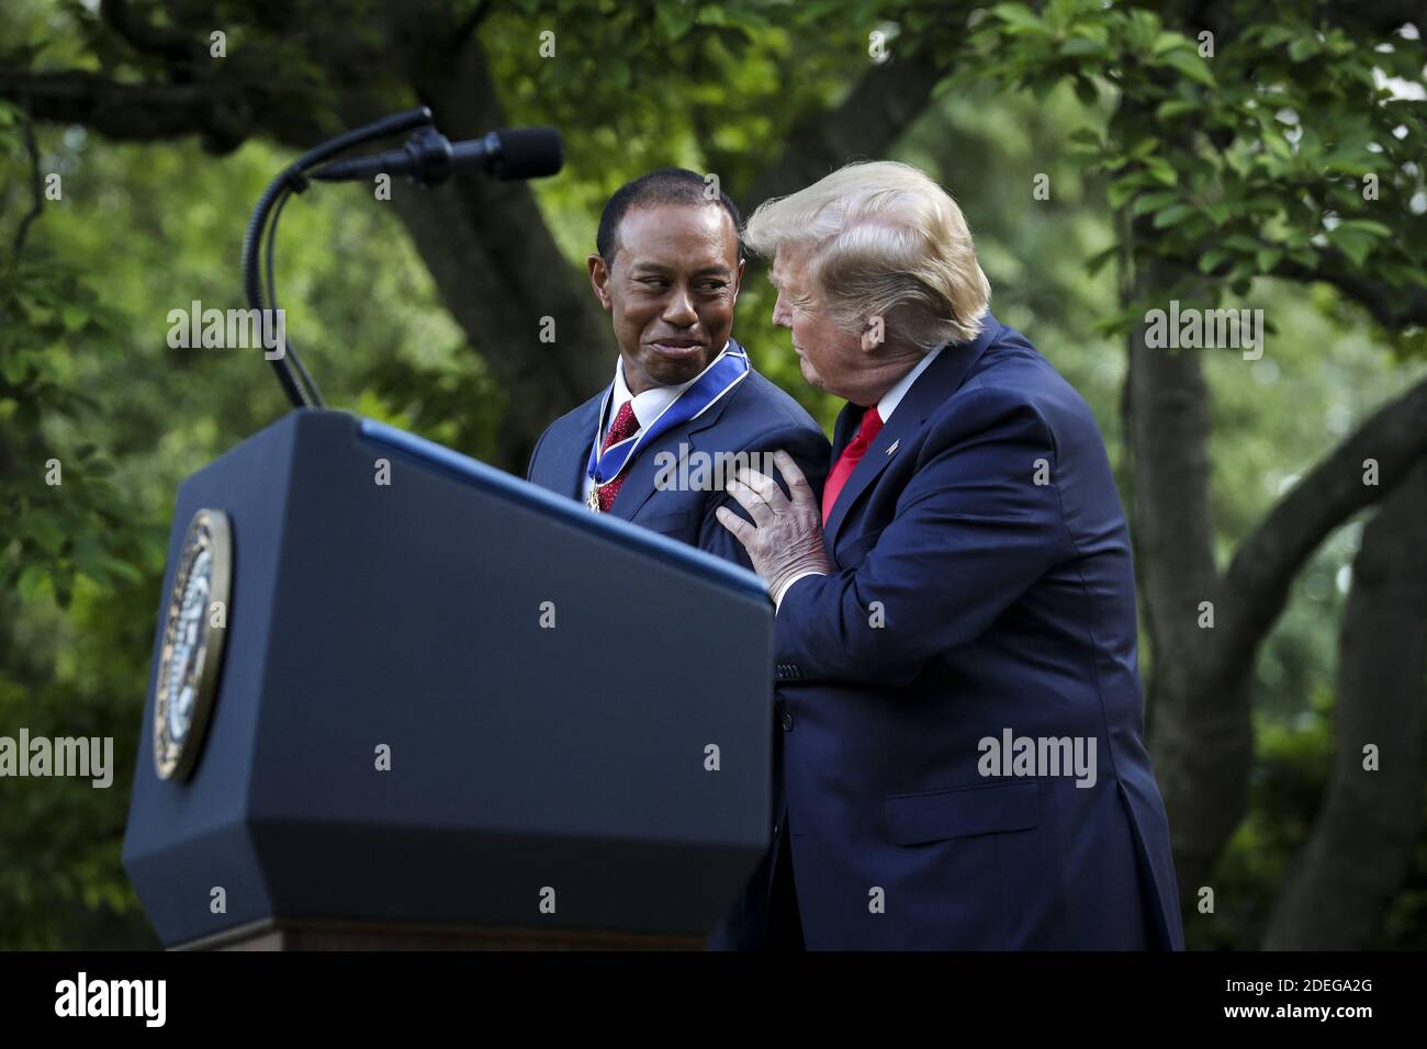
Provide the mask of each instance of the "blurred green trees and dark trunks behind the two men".
{"label": "blurred green trees and dark trunks behind the two men", "polygon": [[[1190,945],[1427,946],[1424,29],[1421,3],[11,0],[0,735],[113,735],[118,768],[0,779],[0,945],[154,942],[118,852],[174,491],[285,410],[257,354],[168,348],[167,314],[243,304],[295,151],[424,103],[451,137],[554,124],[567,167],[291,203],[278,287],[332,405],[521,472],[606,381],[582,260],[622,181],[681,164],[746,213],[918,164],[1116,464]],[[1146,347],[1170,298],[1261,308],[1263,357]],[[751,265],[738,337],[831,430],[771,308]]]}

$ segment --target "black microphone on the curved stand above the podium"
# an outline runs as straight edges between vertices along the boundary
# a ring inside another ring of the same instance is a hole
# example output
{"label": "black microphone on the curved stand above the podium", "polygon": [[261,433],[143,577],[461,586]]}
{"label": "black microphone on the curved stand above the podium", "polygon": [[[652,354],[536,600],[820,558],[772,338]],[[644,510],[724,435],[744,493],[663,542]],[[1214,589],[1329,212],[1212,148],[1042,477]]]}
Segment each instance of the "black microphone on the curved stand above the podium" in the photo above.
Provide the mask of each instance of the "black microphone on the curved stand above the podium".
{"label": "black microphone on the curved stand above the podium", "polygon": [[479,170],[497,178],[542,178],[565,166],[559,131],[554,127],[514,127],[491,131],[484,138],[451,143],[434,127],[421,128],[400,150],[375,157],[340,160],[310,178],[328,183],[365,181],[378,174],[407,176],[414,183],[435,186],[452,174]]}

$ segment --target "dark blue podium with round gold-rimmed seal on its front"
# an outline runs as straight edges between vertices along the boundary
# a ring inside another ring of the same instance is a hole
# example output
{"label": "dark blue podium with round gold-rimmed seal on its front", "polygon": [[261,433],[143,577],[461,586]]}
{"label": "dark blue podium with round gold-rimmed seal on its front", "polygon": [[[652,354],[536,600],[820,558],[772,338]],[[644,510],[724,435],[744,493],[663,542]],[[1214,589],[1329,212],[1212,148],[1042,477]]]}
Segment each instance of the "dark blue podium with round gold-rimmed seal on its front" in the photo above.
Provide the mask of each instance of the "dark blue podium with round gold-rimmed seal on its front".
{"label": "dark blue podium with round gold-rimmed seal on its front", "polygon": [[772,614],[294,411],[180,487],[124,868],[168,948],[698,949],[769,845]]}

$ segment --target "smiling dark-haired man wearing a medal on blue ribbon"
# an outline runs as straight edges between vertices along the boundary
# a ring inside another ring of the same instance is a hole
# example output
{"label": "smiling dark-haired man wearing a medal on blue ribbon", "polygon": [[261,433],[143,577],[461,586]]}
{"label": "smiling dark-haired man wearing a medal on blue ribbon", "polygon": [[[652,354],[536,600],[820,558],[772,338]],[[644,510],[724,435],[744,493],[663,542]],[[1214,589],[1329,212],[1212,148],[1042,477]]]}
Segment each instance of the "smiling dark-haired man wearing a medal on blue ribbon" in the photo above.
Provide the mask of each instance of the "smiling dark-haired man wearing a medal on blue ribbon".
{"label": "smiling dark-haired man wearing a medal on blue ribbon", "polygon": [[[743,545],[715,517],[719,508],[743,514],[714,484],[725,471],[669,464],[685,457],[728,464],[735,455],[765,462],[781,450],[821,492],[831,445],[731,337],[743,277],[741,224],[726,194],[709,196],[704,177],[682,168],[642,176],[609,198],[586,265],[619,344],[614,381],[541,434],[528,477],[592,512],[751,568]],[[776,835],[776,785],[773,809]],[[768,928],[771,886],[769,856],[709,946],[801,946],[785,942],[798,936],[796,922]]]}

